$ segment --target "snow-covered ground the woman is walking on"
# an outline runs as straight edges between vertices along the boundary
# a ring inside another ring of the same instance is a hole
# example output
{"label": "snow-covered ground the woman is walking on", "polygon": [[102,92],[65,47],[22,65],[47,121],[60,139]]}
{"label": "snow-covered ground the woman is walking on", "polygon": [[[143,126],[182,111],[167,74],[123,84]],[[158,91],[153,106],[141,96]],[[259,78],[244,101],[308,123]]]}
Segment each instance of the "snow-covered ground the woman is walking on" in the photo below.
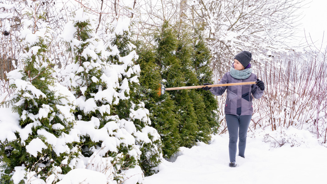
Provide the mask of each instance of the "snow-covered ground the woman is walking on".
{"label": "snow-covered ground the woman is walking on", "polygon": [[[270,150],[269,150],[270,149]],[[270,148],[268,143],[247,138],[245,156],[236,156],[238,167],[228,167],[228,135],[213,136],[209,145],[181,148],[175,162],[164,162],[158,174],[143,184],[265,184],[324,183],[327,148],[314,145]]]}

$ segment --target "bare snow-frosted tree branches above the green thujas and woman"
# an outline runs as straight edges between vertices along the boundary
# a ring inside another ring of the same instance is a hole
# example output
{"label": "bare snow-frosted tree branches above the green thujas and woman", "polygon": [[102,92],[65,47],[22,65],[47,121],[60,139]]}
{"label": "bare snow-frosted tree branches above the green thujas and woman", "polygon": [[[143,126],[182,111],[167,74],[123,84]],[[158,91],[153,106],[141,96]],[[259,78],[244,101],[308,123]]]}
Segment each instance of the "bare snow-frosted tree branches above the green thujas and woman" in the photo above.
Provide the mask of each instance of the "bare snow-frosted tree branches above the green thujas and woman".
{"label": "bare snow-frosted tree branches above the green thujas and woman", "polygon": [[[212,50],[212,67],[218,81],[241,50],[253,53],[254,61],[268,50],[287,51],[297,31],[303,0],[161,0],[140,1],[138,36],[151,44],[151,33],[163,20],[172,24],[202,24]],[[205,23],[205,24],[203,24]]]}

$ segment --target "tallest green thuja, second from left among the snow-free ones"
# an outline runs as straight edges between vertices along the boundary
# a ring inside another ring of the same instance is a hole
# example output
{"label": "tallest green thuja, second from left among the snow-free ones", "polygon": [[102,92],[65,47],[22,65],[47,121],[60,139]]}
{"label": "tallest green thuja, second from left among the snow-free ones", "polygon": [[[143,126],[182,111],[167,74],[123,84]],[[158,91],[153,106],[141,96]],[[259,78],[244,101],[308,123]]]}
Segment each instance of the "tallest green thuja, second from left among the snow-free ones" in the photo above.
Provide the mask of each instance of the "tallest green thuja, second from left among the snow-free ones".
{"label": "tallest green thuja, second from left among the snow-free ones", "polygon": [[[178,32],[165,21],[162,30],[156,37],[157,63],[161,66],[161,75],[168,87],[182,87],[196,82],[190,66],[190,50],[179,40]],[[177,128],[180,145],[191,147],[196,141],[197,116],[190,94],[193,90],[173,90],[168,92],[176,105]]]}

